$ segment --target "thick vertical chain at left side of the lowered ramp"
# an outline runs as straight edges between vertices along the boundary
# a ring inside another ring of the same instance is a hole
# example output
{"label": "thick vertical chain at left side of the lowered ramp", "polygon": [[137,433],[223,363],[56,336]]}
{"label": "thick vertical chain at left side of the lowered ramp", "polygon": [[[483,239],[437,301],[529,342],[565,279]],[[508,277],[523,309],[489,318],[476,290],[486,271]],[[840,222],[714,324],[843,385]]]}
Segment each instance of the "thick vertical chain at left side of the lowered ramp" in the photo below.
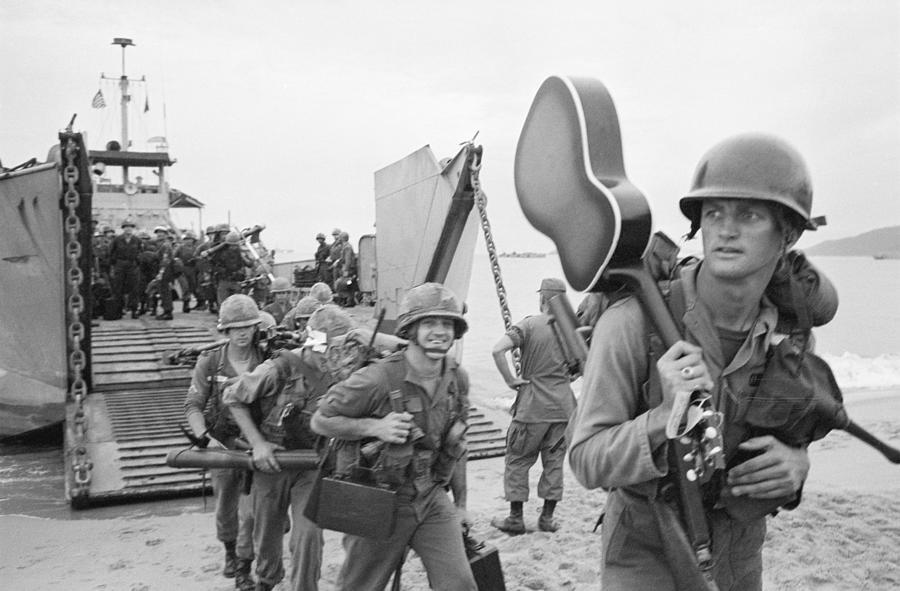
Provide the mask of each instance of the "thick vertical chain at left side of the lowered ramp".
{"label": "thick vertical chain at left side of the lowered ramp", "polygon": [[85,328],[81,322],[81,314],[84,312],[85,303],[81,296],[81,284],[84,282],[84,273],[81,271],[81,242],[78,235],[81,232],[81,220],[78,219],[77,210],[81,204],[81,196],[78,194],[78,168],[75,159],[78,147],[75,141],[68,137],[64,147],[65,168],[63,168],[63,181],[65,193],[63,205],[66,208],[66,217],[63,222],[65,230],[65,255],[66,282],[68,285],[68,297],[66,299],[66,311],[68,314],[69,336],[69,371],[72,383],[69,387],[69,398],[75,402],[72,431],[75,441],[72,449],[72,470],[75,473],[75,486],[73,496],[83,497],[88,494],[91,484],[91,469],[93,464],[88,458],[85,436],[87,432],[87,420],[84,412],[84,401],[87,398],[87,383],[84,381],[84,369],[87,357],[82,349],[85,339]]}

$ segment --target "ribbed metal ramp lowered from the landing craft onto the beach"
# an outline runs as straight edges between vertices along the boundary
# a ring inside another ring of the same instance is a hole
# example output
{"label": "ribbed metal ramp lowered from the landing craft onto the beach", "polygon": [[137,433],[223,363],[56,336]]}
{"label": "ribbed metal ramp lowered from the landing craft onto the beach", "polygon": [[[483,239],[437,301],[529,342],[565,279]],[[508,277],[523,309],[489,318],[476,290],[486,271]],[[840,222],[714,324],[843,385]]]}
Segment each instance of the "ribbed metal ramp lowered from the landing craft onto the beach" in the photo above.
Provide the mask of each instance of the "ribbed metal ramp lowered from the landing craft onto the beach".
{"label": "ribbed metal ramp lowered from the landing craft onto the beach", "polygon": [[[177,308],[177,306],[176,306]],[[357,311],[358,310],[358,311]],[[369,309],[371,310],[371,309]],[[367,322],[369,312],[354,309]],[[216,316],[175,312],[172,321],[152,317],[101,320],[92,329],[93,389],[85,402],[85,448],[92,463],[85,505],[199,494],[209,486],[204,470],[172,468],[166,455],[189,445],[179,425],[187,426],[183,404],[190,366],[167,365],[164,354],[221,338]],[[66,496],[72,498],[74,448],[69,404],[66,421]],[[505,432],[477,408],[470,412],[469,459],[501,456]],[[81,502],[79,502],[81,504]]]}

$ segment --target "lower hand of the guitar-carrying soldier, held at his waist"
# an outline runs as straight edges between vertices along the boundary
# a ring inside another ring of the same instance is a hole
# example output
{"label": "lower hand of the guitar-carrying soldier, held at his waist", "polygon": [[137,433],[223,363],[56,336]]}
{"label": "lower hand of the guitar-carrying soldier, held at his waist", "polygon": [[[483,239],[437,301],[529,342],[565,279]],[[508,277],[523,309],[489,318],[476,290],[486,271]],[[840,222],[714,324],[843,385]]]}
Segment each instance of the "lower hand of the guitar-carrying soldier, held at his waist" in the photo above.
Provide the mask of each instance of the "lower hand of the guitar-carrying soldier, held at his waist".
{"label": "lower hand of the guitar-carrying soldier, held at his waist", "polygon": [[726,484],[735,496],[777,499],[796,493],[809,474],[805,448],[791,447],[771,435],[753,437],[738,446],[759,455],[728,471]]}

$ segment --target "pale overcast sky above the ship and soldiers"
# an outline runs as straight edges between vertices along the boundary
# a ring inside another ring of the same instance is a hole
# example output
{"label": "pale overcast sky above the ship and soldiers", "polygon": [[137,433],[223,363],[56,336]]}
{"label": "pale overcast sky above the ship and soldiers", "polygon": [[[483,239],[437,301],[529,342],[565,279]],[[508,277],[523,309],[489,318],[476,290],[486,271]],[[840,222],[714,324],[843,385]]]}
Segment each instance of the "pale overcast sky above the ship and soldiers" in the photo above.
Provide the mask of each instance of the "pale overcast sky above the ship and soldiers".
{"label": "pale overcast sky above the ship and soldiers", "polygon": [[[629,178],[654,225],[677,209],[703,152],[770,132],[807,160],[814,213],[801,246],[900,224],[900,3],[0,1],[0,159],[43,159],[73,113],[89,147],[119,136],[114,37],[129,37],[136,149],[166,135],[172,186],[203,224],[266,224],[304,258],[335,226],[374,231],[373,173],[423,145],[440,159],[480,132],[500,250],[546,251],[513,187],[541,82],[589,76],[619,112]],[[146,88],[150,111],[143,110]],[[163,118],[165,105],[166,117]],[[186,223],[194,221],[189,219]]]}

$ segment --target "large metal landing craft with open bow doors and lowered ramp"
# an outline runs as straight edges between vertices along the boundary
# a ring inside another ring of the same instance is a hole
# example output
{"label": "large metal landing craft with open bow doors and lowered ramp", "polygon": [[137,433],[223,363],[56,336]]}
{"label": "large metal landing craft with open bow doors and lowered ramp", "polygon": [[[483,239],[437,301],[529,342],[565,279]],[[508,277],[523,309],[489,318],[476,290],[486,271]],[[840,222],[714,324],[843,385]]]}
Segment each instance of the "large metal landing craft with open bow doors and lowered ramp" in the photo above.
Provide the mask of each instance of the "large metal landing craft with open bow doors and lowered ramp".
{"label": "large metal landing craft with open bow doors and lowered ramp", "polygon": [[[124,52],[125,41],[114,44]],[[64,423],[65,494],[76,508],[204,488],[201,470],[165,464],[187,443],[179,425],[191,367],[166,364],[164,354],[220,337],[209,313],[92,324],[91,222],[117,227],[131,216],[142,227],[171,227],[171,208],[203,206],[169,189],[168,151],[129,151],[127,132],[118,150],[106,147],[88,150],[67,129],[47,162],[0,169],[0,439]],[[378,243],[360,242],[373,318],[384,307],[396,321],[402,293],[423,281],[443,280],[465,300],[477,232],[474,158],[480,148],[471,144],[446,162],[426,146],[376,173]],[[141,166],[156,168],[159,184],[132,178]],[[103,180],[117,168],[121,183]],[[276,265],[273,274],[290,279],[296,266]],[[470,417],[470,458],[502,455],[500,430]]]}

